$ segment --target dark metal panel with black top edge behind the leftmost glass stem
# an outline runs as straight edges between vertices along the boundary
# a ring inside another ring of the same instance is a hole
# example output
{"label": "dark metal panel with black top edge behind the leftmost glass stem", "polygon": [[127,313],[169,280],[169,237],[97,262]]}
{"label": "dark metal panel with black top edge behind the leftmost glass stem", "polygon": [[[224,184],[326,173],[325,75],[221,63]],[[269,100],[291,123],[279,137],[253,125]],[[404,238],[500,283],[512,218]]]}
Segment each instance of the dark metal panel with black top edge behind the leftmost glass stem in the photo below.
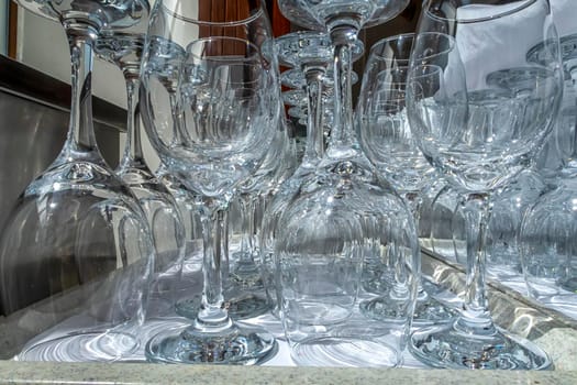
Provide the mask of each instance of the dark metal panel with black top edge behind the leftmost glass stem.
{"label": "dark metal panel with black top edge behind the leftmost glass stem", "polygon": [[[69,103],[68,85],[0,56],[0,231],[18,196],[60,152],[68,132]],[[97,98],[93,109],[100,151],[115,167],[126,113]],[[30,295],[42,298],[42,293]]]}

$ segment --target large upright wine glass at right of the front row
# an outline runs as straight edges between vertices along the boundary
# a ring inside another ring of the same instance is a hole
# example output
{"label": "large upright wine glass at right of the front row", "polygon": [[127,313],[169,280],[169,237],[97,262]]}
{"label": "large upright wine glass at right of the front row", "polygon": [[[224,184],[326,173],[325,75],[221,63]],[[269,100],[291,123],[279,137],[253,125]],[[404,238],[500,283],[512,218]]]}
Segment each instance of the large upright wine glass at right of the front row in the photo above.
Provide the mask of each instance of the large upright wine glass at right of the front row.
{"label": "large upright wine glass at right of the front row", "polygon": [[[545,352],[492,322],[485,242],[491,194],[526,168],[558,110],[563,74],[548,2],[429,0],[422,12],[411,54],[409,122],[425,157],[467,193],[459,202],[467,290],[461,315],[415,331],[410,351],[436,367],[547,369]],[[488,88],[488,74],[528,65],[528,48],[542,41],[543,72],[523,92]]]}

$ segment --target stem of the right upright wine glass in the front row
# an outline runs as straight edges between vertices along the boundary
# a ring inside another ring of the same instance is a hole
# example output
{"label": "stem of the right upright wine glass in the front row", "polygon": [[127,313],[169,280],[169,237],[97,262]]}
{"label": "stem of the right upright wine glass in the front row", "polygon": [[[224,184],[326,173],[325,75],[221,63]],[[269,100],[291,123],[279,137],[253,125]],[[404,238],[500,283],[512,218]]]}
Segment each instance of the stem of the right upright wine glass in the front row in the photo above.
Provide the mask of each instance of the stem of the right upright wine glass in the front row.
{"label": "stem of the right upright wine glass in the front row", "polygon": [[492,323],[485,286],[486,238],[491,213],[489,195],[469,194],[461,201],[465,216],[467,242],[467,283],[465,304],[455,328],[475,334],[492,334]]}

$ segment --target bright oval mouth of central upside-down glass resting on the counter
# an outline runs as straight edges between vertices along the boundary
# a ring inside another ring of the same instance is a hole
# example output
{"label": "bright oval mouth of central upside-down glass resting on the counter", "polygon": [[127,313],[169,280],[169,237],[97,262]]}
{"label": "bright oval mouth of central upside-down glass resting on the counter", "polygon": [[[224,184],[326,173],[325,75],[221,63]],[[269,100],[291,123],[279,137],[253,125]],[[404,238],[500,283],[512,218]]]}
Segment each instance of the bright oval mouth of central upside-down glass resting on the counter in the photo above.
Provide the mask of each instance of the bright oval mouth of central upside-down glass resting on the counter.
{"label": "bright oval mouth of central upside-down glass resting on the counter", "polygon": [[401,363],[397,349],[385,342],[347,337],[306,340],[293,344],[290,355],[302,366],[395,367]]}

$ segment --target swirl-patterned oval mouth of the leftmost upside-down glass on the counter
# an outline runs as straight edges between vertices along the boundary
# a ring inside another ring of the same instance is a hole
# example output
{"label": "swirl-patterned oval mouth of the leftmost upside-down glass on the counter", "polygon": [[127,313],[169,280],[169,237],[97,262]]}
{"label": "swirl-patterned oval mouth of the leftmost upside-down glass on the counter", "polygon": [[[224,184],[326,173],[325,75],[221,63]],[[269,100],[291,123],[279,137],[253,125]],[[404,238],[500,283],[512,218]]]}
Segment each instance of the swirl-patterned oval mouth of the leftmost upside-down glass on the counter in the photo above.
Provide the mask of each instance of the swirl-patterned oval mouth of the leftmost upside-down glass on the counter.
{"label": "swirl-patterned oval mouth of the leftmost upside-down glass on the counter", "polygon": [[86,332],[43,340],[25,346],[16,361],[112,362],[122,360],[138,348],[131,333]]}

